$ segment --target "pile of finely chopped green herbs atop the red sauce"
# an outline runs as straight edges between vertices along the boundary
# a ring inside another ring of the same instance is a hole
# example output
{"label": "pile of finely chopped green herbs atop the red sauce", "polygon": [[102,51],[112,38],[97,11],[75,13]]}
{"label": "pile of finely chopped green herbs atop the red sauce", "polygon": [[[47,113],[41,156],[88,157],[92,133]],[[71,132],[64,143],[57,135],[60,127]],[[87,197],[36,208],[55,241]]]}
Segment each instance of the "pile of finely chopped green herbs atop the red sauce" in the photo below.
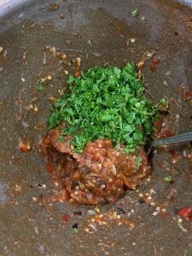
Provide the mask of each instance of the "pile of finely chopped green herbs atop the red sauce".
{"label": "pile of finely chopped green herbs atop the red sauce", "polygon": [[125,145],[125,152],[134,152],[154,132],[159,119],[158,108],[143,96],[144,86],[137,77],[134,63],[125,67],[95,67],[82,77],[69,76],[70,93],[50,108],[49,129],[65,122],[63,136],[76,152],[83,152],[87,143],[98,138],[110,138],[113,145]]}

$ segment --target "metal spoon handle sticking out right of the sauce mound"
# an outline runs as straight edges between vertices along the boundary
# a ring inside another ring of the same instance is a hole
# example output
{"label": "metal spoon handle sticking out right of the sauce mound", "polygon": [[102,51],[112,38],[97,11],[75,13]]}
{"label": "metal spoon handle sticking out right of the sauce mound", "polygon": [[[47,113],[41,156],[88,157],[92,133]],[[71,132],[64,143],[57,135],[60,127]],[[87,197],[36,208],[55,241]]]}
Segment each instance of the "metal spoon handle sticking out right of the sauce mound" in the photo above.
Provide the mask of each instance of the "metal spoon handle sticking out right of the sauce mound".
{"label": "metal spoon handle sticking out right of the sauce mound", "polygon": [[179,134],[173,137],[166,137],[164,139],[157,139],[151,141],[148,145],[148,154],[150,153],[151,149],[154,147],[159,147],[161,145],[168,145],[173,143],[189,143],[192,141],[192,131]]}

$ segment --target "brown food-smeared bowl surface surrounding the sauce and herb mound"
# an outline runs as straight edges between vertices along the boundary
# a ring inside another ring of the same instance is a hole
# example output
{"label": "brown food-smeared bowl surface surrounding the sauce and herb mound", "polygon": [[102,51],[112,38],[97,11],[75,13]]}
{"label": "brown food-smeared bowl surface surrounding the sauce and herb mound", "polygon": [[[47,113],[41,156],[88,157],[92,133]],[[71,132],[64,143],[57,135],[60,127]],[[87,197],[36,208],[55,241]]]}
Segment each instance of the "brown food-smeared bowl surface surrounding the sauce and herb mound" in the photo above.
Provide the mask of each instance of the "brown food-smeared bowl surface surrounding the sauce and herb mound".
{"label": "brown food-smeared bowl surface surrounding the sauce and herb mound", "polygon": [[[94,207],[41,207],[32,199],[53,194],[38,142],[47,132],[49,97],[58,96],[67,78],[46,46],[62,50],[69,61],[79,56],[83,69],[107,62],[122,67],[125,61],[140,61],[146,52],[155,52],[158,69],[150,71],[150,59],[144,67],[148,92],[156,102],[164,96],[172,102],[170,116],[177,133],[191,131],[191,107],[180,90],[181,84],[192,89],[191,9],[166,0],[24,2],[0,20],[0,255],[191,255],[191,223],[183,219],[178,224],[175,212],[191,207],[191,162],[182,158],[171,164],[172,155],[160,149],[152,159],[149,183],[101,207],[103,214],[123,208],[123,218],[135,224],[133,230],[114,221],[96,224],[96,232],[89,234],[84,228]],[[145,19],[131,17],[134,7]],[[131,38],[135,43],[127,44]],[[74,73],[73,67],[64,69]],[[48,74],[53,79],[46,90],[36,90],[34,85]],[[29,111],[30,104],[38,111]],[[22,153],[20,140],[32,141],[32,150]],[[189,145],[176,148],[179,155],[183,150],[191,154]],[[164,181],[169,175],[172,184]],[[150,189],[155,191],[149,198],[154,206],[139,201],[139,194]],[[168,215],[155,216],[156,207],[166,208]],[[79,211],[81,216],[73,214]],[[67,223],[61,220],[65,214]],[[78,234],[72,230],[75,223]]]}

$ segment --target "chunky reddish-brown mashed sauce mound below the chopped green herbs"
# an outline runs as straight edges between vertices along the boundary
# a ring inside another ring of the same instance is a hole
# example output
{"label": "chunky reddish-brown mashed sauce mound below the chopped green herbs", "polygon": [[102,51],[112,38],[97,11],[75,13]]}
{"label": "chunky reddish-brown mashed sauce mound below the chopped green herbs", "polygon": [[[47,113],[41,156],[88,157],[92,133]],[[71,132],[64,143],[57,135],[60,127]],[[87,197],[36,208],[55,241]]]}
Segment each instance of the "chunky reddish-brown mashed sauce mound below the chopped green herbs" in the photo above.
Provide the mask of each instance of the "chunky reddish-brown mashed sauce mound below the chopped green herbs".
{"label": "chunky reddish-brown mashed sauce mound below the chopped green herbs", "polygon": [[60,130],[49,131],[42,149],[51,180],[65,195],[62,201],[113,202],[127,189],[140,186],[151,172],[143,148],[135,154],[125,154],[122,147],[113,148],[111,140],[98,139],[88,143],[84,153],[79,154],[68,146],[72,136],[62,137],[62,142],[58,138],[61,138]]}

